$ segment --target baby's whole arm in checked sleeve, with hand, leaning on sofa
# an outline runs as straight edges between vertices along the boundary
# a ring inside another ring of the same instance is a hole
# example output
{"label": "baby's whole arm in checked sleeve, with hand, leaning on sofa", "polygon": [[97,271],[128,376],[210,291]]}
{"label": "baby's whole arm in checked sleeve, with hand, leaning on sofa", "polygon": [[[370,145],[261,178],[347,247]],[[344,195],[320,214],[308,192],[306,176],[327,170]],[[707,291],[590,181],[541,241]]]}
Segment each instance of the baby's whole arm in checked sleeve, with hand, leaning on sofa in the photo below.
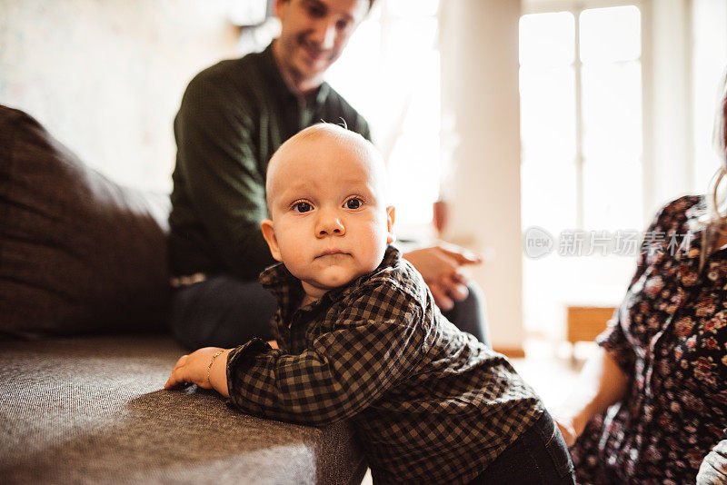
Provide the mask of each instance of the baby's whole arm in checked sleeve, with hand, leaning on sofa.
{"label": "baby's whole arm in checked sleeve, with hand, leaning on sofa", "polygon": [[261,339],[235,349],[207,347],[183,356],[164,388],[184,382],[214,388],[241,411],[267,419],[323,426],[351,417],[408,375],[426,353],[423,308],[390,286],[371,282],[362,288],[337,315],[334,328],[315,336],[301,353],[274,350]]}

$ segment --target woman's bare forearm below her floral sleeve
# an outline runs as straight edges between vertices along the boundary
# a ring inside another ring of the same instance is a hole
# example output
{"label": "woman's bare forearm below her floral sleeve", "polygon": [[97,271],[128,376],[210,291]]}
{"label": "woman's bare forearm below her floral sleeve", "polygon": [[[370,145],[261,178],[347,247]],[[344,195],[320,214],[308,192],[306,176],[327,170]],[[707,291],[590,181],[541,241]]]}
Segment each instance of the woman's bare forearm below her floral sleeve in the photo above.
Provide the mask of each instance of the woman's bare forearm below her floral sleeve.
{"label": "woman's bare forearm below her floral sleeve", "polygon": [[578,438],[588,421],[621,401],[629,377],[603,348],[583,366],[575,391],[557,412],[556,422],[568,446]]}

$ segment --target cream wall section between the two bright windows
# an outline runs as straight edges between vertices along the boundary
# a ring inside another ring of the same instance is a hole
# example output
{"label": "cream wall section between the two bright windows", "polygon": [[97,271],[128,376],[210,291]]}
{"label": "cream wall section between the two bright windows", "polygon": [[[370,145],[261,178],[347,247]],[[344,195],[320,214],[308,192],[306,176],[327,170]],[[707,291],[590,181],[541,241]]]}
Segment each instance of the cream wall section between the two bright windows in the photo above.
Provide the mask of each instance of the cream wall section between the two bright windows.
{"label": "cream wall section between the two bright windows", "polygon": [[441,6],[443,119],[453,122],[451,222],[444,239],[487,258],[473,271],[487,298],[493,345],[523,343],[520,227],[520,2]]}

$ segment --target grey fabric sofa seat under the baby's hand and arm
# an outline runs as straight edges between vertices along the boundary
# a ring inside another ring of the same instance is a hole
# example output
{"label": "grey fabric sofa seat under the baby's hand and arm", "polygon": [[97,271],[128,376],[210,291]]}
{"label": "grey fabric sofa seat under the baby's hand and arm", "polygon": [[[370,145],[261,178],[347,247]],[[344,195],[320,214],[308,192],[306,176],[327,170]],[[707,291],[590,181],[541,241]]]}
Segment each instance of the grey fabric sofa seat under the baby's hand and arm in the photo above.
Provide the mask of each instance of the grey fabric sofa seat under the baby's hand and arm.
{"label": "grey fabric sofa seat under the baby's hand and arm", "polygon": [[167,336],[0,342],[5,483],[360,483],[349,423],[311,428],[162,386]]}

